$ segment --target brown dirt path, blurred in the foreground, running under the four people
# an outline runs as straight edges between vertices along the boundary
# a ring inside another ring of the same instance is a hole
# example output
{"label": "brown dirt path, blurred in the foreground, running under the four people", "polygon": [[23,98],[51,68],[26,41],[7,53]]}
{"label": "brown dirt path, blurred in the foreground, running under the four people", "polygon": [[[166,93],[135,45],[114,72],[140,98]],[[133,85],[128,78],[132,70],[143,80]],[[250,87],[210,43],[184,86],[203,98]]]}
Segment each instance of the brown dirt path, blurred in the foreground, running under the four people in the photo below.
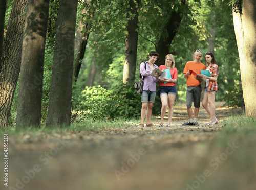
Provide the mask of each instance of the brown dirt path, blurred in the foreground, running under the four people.
{"label": "brown dirt path, blurred in the foreground, running under the four people", "polygon": [[209,165],[207,156],[214,157],[211,139],[226,116],[240,111],[217,104],[220,123],[212,127],[204,125],[209,121],[204,110],[200,126],[182,126],[186,108],[175,106],[170,128],[158,127],[156,118],[157,127],[152,128],[129,124],[120,129],[9,137],[8,187],[1,184],[1,189],[196,189],[195,181],[201,180],[202,187],[207,178],[202,175]]}

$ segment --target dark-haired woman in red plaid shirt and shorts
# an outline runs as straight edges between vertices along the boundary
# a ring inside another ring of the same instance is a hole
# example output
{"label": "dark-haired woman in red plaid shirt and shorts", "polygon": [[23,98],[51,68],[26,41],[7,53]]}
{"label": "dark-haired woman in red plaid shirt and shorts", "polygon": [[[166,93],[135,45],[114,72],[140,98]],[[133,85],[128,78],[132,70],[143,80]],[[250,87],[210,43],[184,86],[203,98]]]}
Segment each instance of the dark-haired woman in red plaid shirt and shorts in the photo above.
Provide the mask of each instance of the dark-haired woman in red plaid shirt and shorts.
{"label": "dark-haired woman in red plaid shirt and shorts", "polygon": [[[219,75],[219,67],[214,58],[214,54],[206,52],[205,54],[206,70],[209,70],[211,77],[206,76],[205,92],[202,106],[210,115],[210,122],[205,125],[214,125],[219,123],[215,117],[215,93],[218,90],[217,78]],[[208,106],[209,104],[209,106]]]}

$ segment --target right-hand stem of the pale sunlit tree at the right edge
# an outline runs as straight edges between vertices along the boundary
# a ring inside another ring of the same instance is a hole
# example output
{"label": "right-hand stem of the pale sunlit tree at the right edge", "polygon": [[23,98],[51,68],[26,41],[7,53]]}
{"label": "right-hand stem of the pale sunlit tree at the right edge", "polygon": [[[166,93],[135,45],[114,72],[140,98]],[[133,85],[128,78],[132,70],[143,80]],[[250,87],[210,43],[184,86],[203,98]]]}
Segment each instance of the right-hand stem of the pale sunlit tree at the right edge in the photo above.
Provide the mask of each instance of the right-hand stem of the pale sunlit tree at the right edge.
{"label": "right-hand stem of the pale sunlit tree at the right edge", "polygon": [[243,1],[242,23],[244,42],[242,51],[245,62],[240,63],[245,113],[256,118],[256,1]]}

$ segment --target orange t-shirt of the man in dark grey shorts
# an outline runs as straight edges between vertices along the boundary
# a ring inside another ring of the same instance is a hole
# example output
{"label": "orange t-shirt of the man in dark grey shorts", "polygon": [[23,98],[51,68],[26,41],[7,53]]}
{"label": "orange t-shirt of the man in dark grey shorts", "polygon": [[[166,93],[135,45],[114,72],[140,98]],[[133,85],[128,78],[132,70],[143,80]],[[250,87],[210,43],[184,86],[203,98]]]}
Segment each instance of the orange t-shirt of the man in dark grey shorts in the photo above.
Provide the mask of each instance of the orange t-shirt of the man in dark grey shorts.
{"label": "orange t-shirt of the man in dark grey shorts", "polygon": [[[205,70],[206,66],[203,63],[195,63],[194,61],[188,61],[185,65],[183,73],[186,74],[188,70],[194,70],[197,74],[201,74],[200,70]],[[195,79],[194,75],[187,76],[187,86],[198,86],[201,82]]]}

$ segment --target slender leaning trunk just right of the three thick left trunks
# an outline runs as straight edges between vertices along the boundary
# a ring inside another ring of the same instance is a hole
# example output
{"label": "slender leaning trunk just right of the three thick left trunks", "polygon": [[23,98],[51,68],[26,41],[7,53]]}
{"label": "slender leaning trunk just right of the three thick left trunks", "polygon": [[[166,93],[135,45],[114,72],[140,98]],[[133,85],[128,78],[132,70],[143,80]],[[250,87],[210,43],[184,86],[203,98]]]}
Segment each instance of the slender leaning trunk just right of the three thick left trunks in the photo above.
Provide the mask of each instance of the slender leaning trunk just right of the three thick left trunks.
{"label": "slender leaning trunk just right of the three thick left trunks", "polygon": [[[88,6],[86,6],[82,12],[81,12],[81,18],[78,23],[78,27],[76,30],[76,38],[75,38],[75,51],[77,52],[76,61],[73,68],[73,77],[75,77],[75,82],[77,81],[82,59],[84,57],[84,53],[86,52],[86,45],[88,42],[89,34],[90,34],[90,27],[92,25],[91,21],[88,20],[86,23],[84,23],[83,18],[88,14],[91,0],[85,1]],[[96,3],[96,2],[95,2]],[[94,14],[94,12],[92,12]],[[85,28],[85,31],[83,30]],[[83,31],[83,33],[82,33]]]}

